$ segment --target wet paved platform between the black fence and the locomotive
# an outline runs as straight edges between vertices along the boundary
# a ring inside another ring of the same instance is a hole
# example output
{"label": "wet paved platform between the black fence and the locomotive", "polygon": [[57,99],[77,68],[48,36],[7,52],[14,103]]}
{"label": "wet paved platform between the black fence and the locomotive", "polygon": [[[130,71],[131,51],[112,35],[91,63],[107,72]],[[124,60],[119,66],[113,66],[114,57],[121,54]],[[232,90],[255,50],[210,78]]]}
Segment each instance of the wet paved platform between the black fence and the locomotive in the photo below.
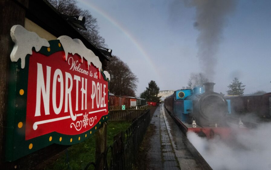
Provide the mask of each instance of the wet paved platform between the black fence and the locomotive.
{"label": "wet paved platform between the black fence and the locomotive", "polygon": [[194,146],[166,112],[164,105],[157,107],[150,123],[155,125],[147,155],[150,169],[206,169],[201,167],[197,155],[191,152]]}

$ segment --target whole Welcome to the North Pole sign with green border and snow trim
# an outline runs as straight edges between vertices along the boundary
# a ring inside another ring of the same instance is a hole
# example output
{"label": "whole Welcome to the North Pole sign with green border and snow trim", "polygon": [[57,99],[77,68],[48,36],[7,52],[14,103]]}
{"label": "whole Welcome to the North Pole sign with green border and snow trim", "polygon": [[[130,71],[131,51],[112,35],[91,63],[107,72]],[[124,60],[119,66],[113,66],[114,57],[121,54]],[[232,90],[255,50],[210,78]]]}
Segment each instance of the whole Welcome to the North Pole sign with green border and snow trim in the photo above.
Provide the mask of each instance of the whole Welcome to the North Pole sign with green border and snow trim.
{"label": "whole Welcome to the North Pole sign with green border and snow trim", "polygon": [[11,28],[6,160],[90,137],[109,118],[110,75],[80,39]]}

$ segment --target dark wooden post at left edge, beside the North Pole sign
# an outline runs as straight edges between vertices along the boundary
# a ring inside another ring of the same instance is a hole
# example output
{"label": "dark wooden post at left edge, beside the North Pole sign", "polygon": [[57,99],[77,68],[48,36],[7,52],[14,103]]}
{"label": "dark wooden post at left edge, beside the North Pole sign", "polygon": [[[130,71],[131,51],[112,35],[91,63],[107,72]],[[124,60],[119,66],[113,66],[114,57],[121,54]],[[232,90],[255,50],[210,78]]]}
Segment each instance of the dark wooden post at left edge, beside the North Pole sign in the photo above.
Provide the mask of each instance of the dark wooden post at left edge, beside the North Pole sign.
{"label": "dark wooden post at left edge, beside the North Pole sign", "polygon": [[[10,29],[13,25],[20,24],[24,26],[25,8],[28,8],[28,0],[2,0],[0,20],[0,169],[5,167],[5,128],[6,113],[8,106],[8,78],[10,53],[13,48],[13,42],[10,37]],[[15,168],[15,167],[10,167]]]}

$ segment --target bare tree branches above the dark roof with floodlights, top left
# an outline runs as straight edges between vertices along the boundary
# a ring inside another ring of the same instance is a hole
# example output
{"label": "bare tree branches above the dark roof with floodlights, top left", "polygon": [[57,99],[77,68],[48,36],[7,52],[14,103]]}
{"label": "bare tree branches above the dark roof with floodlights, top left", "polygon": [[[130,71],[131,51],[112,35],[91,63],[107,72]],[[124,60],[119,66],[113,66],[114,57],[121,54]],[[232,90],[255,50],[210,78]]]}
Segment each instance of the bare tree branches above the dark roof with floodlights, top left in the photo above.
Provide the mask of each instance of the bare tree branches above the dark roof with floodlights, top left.
{"label": "bare tree branches above the dark roof with floodlights, top left", "polygon": [[78,29],[80,33],[94,46],[107,47],[105,39],[99,35],[97,19],[91,15],[89,10],[79,8],[76,0],[48,0],[48,2],[53,5],[60,14],[67,16],[85,16],[85,27],[87,30]]}

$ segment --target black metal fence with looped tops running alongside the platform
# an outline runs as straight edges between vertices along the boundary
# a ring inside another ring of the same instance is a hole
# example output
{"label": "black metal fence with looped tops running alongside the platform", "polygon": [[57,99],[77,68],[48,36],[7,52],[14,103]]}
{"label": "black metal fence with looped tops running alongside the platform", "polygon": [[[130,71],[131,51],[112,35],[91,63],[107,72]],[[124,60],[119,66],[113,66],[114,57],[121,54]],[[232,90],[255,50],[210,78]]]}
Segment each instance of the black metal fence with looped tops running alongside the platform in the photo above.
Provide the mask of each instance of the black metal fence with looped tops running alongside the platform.
{"label": "black metal fence with looped tops running alongside the platform", "polygon": [[114,137],[114,142],[108,146],[105,153],[100,154],[96,162],[90,162],[85,169],[132,169],[140,143],[150,123],[150,109],[134,119],[125,131]]}

